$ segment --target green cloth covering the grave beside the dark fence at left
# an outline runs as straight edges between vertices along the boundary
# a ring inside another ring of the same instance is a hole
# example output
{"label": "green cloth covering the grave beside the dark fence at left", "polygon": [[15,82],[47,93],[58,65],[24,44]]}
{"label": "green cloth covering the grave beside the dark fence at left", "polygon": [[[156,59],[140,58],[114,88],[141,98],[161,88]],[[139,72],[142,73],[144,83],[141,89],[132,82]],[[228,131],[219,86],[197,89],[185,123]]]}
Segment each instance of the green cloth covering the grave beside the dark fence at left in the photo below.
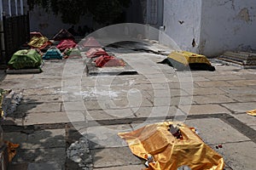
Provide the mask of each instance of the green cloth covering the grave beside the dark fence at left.
{"label": "green cloth covering the grave beside the dark fence at left", "polygon": [[35,49],[23,49],[13,54],[8,65],[16,70],[38,68],[42,64],[41,55]]}

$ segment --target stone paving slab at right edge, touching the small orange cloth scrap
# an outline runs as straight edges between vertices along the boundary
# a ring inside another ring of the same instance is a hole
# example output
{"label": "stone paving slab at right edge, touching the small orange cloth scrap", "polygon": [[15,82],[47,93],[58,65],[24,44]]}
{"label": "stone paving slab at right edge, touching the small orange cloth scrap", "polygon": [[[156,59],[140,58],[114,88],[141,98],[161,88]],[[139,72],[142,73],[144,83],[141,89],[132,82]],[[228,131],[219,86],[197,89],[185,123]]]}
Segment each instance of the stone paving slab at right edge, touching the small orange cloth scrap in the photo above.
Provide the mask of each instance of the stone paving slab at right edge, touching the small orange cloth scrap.
{"label": "stone paving slab at right edge, touching the small orange cloth scrap", "polygon": [[255,102],[222,104],[224,107],[235,113],[251,111],[255,109]]}

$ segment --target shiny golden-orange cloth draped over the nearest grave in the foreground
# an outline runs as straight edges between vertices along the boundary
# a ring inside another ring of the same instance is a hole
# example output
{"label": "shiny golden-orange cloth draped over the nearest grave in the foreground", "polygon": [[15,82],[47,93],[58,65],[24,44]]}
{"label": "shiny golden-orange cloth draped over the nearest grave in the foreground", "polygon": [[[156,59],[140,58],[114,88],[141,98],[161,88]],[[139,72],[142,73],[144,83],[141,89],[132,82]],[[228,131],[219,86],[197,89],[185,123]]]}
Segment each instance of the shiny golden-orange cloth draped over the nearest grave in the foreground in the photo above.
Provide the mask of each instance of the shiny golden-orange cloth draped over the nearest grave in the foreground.
{"label": "shiny golden-orange cloth draped over the nearest grave in the foreground", "polygon": [[119,133],[125,139],[131,152],[145,160],[148,154],[155,162],[149,163],[148,170],[177,170],[183,165],[192,170],[222,170],[224,159],[193,130],[181,125],[183,139],[177,139],[168,131],[173,122],[161,122],[142,127],[131,133]]}

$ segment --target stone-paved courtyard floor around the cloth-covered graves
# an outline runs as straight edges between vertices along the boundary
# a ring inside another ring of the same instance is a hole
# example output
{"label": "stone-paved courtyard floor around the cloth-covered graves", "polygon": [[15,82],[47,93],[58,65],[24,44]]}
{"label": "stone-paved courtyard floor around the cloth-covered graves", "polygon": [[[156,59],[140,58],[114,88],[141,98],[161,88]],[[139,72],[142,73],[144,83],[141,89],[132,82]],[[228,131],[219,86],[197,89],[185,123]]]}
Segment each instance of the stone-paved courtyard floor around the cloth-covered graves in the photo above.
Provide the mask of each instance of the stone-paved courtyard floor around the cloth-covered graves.
{"label": "stone-paved courtyard floor around the cloth-covered graves", "polygon": [[[256,109],[255,70],[213,59],[216,71],[175,71],[156,64],[162,54],[106,49],[138,74],[87,77],[84,59],[45,61],[40,74],[1,72],[0,88],[24,95],[3,122],[4,139],[20,144],[9,169],[82,169],[67,150],[83,137],[89,143],[88,169],[142,169],[144,161],[117,133],[177,116],[224,156],[227,170],[255,169],[256,117],[246,114]],[[218,144],[223,148],[216,149]]]}

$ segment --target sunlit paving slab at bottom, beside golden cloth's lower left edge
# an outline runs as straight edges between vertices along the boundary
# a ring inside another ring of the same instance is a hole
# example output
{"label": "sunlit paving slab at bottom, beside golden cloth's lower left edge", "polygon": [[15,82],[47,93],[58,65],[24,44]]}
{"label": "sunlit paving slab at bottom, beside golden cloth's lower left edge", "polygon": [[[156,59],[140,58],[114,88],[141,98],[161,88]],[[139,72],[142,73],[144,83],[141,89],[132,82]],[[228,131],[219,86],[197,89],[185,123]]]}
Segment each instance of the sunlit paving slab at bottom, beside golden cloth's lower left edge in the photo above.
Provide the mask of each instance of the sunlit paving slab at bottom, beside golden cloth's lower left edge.
{"label": "sunlit paving slab at bottom, beside golden cloth's lower left edge", "polygon": [[128,147],[91,150],[94,167],[118,167],[143,164]]}

